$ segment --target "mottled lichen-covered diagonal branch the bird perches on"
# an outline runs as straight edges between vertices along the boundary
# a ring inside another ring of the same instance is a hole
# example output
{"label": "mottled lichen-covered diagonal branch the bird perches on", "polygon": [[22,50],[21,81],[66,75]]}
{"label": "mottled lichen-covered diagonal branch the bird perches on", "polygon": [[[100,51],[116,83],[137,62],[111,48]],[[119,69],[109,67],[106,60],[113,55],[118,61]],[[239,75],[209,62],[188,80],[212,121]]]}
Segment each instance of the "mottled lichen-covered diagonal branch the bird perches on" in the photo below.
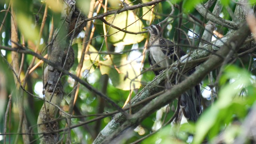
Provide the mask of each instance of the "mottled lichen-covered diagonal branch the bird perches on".
{"label": "mottled lichen-covered diagonal branch the bird perches on", "polygon": [[[247,27],[246,27],[247,28]],[[240,31],[244,31],[243,28],[240,28]],[[244,31],[245,32],[245,31]],[[230,37],[232,37],[232,39],[230,39]],[[212,46],[211,44],[205,44],[203,45],[203,48],[195,50],[189,57],[188,60],[188,64],[186,64],[186,68],[184,69],[184,72],[188,71],[189,69],[195,67],[196,65],[198,65],[198,62],[192,62],[194,60],[198,60],[200,58],[204,58],[206,56],[208,56],[209,51],[214,51],[214,50],[218,50],[218,47],[220,46],[227,46],[227,44],[224,45],[224,42],[227,42],[229,39],[229,42],[232,42],[232,40],[234,41],[240,41],[241,38],[246,38],[246,36],[237,36],[237,35],[226,35],[224,36],[222,39],[220,40],[215,40],[212,43],[214,43],[215,46]],[[255,45],[255,44],[253,44]],[[218,47],[216,47],[218,46]],[[248,46],[248,44],[244,44],[241,47],[241,49],[245,49]],[[219,54],[219,52],[217,53]],[[225,57],[225,55],[220,54],[221,56]],[[215,57],[217,57],[218,59],[221,58],[220,56],[214,55]],[[181,61],[183,61],[183,63],[186,61],[184,60],[186,56],[183,56],[181,59]],[[212,58],[211,58],[212,59]],[[219,62],[220,64],[220,62]],[[150,82],[150,84],[148,84],[144,89],[142,89],[130,102],[130,104],[136,104],[137,102],[140,102],[146,98],[148,98],[150,95],[156,94],[157,92],[160,92],[162,90],[164,90],[163,87],[156,87],[156,86],[163,86],[166,80],[166,76],[170,76],[174,73],[173,70],[166,70],[164,71],[162,74],[156,76],[156,78],[154,78],[154,80],[152,80],[152,82]],[[200,76],[200,74],[198,75]],[[201,78],[201,77],[200,77]],[[203,78],[203,77],[202,77]],[[198,82],[199,83],[199,82]],[[196,83],[196,84],[198,84]],[[183,83],[182,83],[183,84]],[[192,87],[192,86],[191,86]],[[173,89],[172,89],[173,90]],[[184,91],[182,91],[184,92]],[[166,100],[164,100],[166,102]],[[171,101],[171,100],[170,100]],[[129,107],[130,104],[128,104],[126,107]],[[158,104],[159,108],[161,106],[164,106],[165,104]],[[136,108],[132,109],[132,112],[135,113],[138,110],[142,109],[144,105],[140,105]],[[157,108],[155,108],[156,110]],[[107,137],[109,137],[114,131],[116,131],[116,129],[118,128],[118,126],[122,125],[125,122],[125,118],[122,116],[122,114],[116,114],[116,116],[114,116],[114,118],[108,123],[108,125],[102,130],[102,132],[100,132],[100,134],[97,136],[97,138],[94,140],[94,144],[98,144],[101,143],[103,140],[105,140]],[[115,136],[114,136],[115,137]],[[113,137],[112,137],[113,138]],[[110,138],[111,139],[111,138]]]}

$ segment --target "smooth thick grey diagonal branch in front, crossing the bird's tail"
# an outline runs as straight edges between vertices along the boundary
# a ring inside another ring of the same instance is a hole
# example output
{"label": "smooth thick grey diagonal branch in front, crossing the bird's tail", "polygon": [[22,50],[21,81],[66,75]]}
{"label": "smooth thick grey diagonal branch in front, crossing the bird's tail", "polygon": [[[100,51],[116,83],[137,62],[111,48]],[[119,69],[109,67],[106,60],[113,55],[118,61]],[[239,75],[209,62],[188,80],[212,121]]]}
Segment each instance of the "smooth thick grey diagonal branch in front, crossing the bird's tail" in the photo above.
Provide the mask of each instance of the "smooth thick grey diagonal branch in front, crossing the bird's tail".
{"label": "smooth thick grey diagonal branch in front, crossing the bird's tail", "polygon": [[[230,50],[237,51],[240,46],[244,43],[248,35],[250,34],[250,29],[246,24],[244,24],[233,36],[224,44],[220,50],[218,50],[216,53],[225,57]],[[94,144],[98,143],[111,143],[113,140],[118,138],[120,133],[124,133],[126,130],[132,130],[135,128],[144,118],[148,117],[148,115],[152,114],[155,110],[161,108],[162,106],[165,106],[178,96],[180,96],[183,92],[186,90],[189,90],[196,84],[200,83],[203,78],[212,70],[214,70],[216,67],[220,66],[222,62],[224,61],[223,58],[220,58],[219,56],[212,55],[210,58],[204,62],[200,66],[196,72],[194,72],[192,75],[190,75],[186,80],[182,81],[180,84],[173,86],[171,89],[167,90],[164,94],[161,96],[158,96],[155,100],[152,100],[148,104],[146,104],[143,108],[141,108],[138,112],[136,112],[134,115],[132,115],[132,118],[130,120],[126,120],[111,135],[108,135],[106,139],[103,142],[94,141]],[[159,76],[166,76],[170,75],[168,74],[170,70],[163,72]],[[158,76],[158,77],[159,77]],[[155,79],[154,79],[155,80]],[[97,139],[96,139],[97,140]]]}

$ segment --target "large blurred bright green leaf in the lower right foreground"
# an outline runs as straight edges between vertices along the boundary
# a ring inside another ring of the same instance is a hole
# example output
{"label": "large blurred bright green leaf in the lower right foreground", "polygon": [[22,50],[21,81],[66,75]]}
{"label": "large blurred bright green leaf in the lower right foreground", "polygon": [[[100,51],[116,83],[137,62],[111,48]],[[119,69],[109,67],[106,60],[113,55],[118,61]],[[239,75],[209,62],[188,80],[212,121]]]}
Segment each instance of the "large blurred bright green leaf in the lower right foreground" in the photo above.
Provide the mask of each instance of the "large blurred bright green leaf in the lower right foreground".
{"label": "large blurred bright green leaf in the lower right foreground", "polygon": [[218,100],[212,108],[206,110],[196,123],[194,144],[201,143],[207,134],[209,138],[214,138],[221,126],[232,121],[234,114],[238,117],[246,115],[247,99],[238,95],[255,80],[246,70],[236,66],[227,66],[220,80],[226,84],[221,87]]}

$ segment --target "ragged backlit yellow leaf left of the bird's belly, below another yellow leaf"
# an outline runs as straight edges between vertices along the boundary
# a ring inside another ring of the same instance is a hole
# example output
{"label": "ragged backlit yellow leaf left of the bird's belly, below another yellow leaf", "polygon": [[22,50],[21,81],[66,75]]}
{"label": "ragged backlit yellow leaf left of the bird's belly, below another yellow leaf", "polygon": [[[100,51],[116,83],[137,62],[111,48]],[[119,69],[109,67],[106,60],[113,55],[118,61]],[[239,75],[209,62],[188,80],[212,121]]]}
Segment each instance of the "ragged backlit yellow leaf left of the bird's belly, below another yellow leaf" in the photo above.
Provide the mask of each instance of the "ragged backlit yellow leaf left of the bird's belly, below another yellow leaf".
{"label": "ragged backlit yellow leaf left of the bird's belly, below another yellow leaf", "polygon": [[128,61],[126,54],[108,55],[105,58],[99,62],[100,72],[108,74],[113,86],[122,90],[140,88],[140,64]]}

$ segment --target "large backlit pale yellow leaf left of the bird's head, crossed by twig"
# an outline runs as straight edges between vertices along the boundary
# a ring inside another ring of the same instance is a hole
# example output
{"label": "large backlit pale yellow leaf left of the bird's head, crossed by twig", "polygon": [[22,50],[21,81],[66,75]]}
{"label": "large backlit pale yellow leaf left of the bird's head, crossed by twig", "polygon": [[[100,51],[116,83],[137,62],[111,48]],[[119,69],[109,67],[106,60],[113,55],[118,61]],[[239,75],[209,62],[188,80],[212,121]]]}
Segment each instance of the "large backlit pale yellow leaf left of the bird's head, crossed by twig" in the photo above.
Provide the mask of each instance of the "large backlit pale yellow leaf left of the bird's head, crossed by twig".
{"label": "large backlit pale yellow leaf left of the bird's head, crossed by twig", "polygon": [[[139,18],[132,11],[126,11],[121,12],[116,16],[114,14],[109,15],[107,17],[107,22],[130,32],[141,32],[144,25],[142,24],[142,21],[138,19]],[[106,27],[107,30],[110,28],[110,26]],[[108,34],[111,35],[108,37],[108,40],[112,42],[114,46],[136,44],[144,39],[143,34],[128,34],[112,27],[109,29]]]}

